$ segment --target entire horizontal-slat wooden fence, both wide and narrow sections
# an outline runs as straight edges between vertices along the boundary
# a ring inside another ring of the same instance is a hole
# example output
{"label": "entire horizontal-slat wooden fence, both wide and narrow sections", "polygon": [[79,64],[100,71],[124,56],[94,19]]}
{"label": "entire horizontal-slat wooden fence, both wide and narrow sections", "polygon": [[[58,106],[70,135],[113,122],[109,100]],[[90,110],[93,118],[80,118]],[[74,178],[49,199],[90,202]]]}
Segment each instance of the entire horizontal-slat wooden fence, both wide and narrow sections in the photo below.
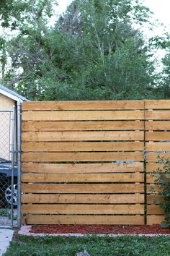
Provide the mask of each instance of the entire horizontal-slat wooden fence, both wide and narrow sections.
{"label": "entire horizontal-slat wooden fence, both wide and narrow sections", "polygon": [[169,132],[156,132],[170,122],[155,121],[170,118],[167,106],[170,101],[23,103],[22,223],[144,224],[146,210],[149,224],[160,223],[149,172],[158,166],[154,152],[170,148],[160,142],[170,140]]}

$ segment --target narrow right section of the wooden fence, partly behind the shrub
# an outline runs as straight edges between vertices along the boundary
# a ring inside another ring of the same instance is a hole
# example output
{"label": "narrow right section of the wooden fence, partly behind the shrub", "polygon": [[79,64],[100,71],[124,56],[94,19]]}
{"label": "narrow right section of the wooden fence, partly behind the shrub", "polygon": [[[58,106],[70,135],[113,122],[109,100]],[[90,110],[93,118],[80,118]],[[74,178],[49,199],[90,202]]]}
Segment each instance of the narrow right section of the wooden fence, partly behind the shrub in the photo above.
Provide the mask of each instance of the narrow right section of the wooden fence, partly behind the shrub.
{"label": "narrow right section of the wooden fence, partly behind the shrub", "polygon": [[152,224],[164,220],[164,212],[158,205],[160,198],[150,187],[155,187],[151,172],[162,166],[157,163],[158,155],[170,159],[170,101],[145,101],[145,109],[147,223]]}

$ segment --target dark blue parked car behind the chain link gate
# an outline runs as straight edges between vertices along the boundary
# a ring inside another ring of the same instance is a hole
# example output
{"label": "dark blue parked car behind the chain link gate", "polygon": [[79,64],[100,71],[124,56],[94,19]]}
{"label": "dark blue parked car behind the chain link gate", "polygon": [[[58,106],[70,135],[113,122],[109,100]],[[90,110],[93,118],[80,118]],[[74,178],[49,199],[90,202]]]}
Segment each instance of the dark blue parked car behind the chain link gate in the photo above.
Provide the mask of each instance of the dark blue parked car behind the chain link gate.
{"label": "dark blue parked car behind the chain link gate", "polygon": [[14,192],[12,200],[12,168],[11,162],[4,158],[0,158],[0,199],[1,206],[13,205],[17,206],[17,166],[14,166]]}

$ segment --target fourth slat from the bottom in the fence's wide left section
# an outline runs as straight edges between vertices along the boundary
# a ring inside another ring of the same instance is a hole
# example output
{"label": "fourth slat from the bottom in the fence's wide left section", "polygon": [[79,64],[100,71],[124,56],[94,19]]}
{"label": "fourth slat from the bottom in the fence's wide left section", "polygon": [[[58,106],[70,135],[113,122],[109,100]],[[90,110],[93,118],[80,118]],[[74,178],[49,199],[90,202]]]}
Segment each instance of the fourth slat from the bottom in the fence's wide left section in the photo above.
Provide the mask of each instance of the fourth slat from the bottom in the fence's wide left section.
{"label": "fourth slat from the bottom in the fence's wide left section", "polygon": [[144,191],[143,184],[22,184],[25,193],[135,193]]}

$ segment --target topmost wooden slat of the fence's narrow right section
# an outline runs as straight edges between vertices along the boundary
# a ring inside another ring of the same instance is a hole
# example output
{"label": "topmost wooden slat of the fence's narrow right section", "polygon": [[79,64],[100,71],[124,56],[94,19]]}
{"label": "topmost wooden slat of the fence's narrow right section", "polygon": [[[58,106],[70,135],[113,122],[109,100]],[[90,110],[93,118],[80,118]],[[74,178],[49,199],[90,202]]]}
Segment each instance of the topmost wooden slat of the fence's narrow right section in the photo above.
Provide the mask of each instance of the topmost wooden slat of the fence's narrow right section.
{"label": "topmost wooden slat of the fence's narrow right section", "polygon": [[168,109],[170,108],[170,100],[146,100],[145,108],[147,109]]}

